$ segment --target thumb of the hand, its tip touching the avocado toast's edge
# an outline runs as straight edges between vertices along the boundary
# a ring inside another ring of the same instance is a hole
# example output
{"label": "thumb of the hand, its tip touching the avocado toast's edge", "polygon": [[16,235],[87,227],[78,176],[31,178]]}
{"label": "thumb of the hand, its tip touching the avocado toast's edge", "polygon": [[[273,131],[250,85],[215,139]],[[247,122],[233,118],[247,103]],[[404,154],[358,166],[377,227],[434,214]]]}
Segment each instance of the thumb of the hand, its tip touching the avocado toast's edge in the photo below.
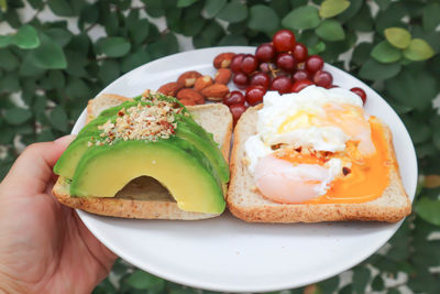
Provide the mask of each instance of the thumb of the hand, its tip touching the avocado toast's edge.
{"label": "thumb of the hand, its tip touching the avocado toast's edge", "polygon": [[53,142],[29,145],[4,177],[2,188],[14,195],[43,193],[53,176],[52,168],[73,139],[74,135],[65,135]]}

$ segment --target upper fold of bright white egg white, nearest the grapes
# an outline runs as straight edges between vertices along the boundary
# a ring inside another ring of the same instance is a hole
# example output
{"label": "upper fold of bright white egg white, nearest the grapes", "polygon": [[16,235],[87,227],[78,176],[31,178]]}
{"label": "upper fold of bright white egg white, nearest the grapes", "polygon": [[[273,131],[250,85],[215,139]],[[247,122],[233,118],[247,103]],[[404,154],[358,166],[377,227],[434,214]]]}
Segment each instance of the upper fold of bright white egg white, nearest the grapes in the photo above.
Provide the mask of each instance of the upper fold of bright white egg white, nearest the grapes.
{"label": "upper fold of bright white egg white, nearest the grapes", "polygon": [[[256,122],[257,134],[245,142],[249,168],[252,173],[261,157],[274,152],[271,146],[275,144],[284,143],[295,148],[304,146],[329,152],[345,149],[345,142],[350,138],[338,127],[308,126],[278,133],[283,122],[298,111],[306,110],[319,116],[324,111],[322,106],[329,102],[362,107],[362,99],[352,91],[343,88],[324,89],[317,86],[309,86],[299,92],[285,95],[268,91],[263,99],[264,107],[258,110]],[[298,123],[298,121],[293,123]]]}

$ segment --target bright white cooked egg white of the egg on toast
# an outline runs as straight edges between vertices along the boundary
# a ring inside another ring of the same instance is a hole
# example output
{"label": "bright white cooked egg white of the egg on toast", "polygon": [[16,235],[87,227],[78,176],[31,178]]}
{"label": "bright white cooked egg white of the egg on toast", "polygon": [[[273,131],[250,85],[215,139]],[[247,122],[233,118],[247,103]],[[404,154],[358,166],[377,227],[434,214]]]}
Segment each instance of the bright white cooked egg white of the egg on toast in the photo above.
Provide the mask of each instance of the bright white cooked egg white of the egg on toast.
{"label": "bright white cooked egg white of the egg on toast", "polygon": [[[340,128],[336,126],[312,126],[307,119],[305,120],[304,116],[295,117],[300,111],[310,113],[311,117],[320,117],[324,112],[323,106],[328,104],[362,107],[362,99],[346,89],[324,89],[316,86],[309,86],[297,94],[279,95],[276,91],[268,91],[264,96],[263,102],[264,107],[257,112],[257,133],[250,137],[244,145],[249,161],[248,168],[252,175],[255,175],[255,166],[258,161],[274,153],[275,151],[271,146],[278,143],[329,152],[338,152],[345,149],[345,142],[350,138]],[[280,128],[280,126],[285,126],[286,121],[287,123],[293,123],[293,126],[287,126],[287,131],[283,131],[284,128]],[[299,128],[296,128],[296,126],[299,126]],[[309,168],[307,165],[309,164],[299,164],[286,168],[286,171],[272,172],[290,173],[292,175],[308,178],[311,176],[310,171],[316,171],[316,168]],[[327,172],[321,173],[319,176],[321,184],[316,187],[316,192],[319,195],[327,193],[330,183],[341,174],[342,165],[341,160],[332,159],[320,167],[324,167]],[[319,165],[309,166],[318,167]],[[271,171],[267,172],[272,173]]]}

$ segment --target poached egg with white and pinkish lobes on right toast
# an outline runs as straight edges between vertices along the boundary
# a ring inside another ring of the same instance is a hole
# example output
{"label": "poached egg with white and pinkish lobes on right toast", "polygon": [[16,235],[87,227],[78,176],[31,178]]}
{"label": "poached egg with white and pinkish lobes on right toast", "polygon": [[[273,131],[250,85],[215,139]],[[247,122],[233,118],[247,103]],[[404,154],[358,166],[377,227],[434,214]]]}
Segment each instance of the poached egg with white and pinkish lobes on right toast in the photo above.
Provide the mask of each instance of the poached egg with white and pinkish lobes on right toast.
{"label": "poached egg with white and pinkish lobes on right toast", "polygon": [[263,104],[245,154],[256,187],[268,199],[295,204],[321,197],[352,167],[359,170],[353,162],[362,165],[377,153],[362,99],[350,90],[268,91]]}

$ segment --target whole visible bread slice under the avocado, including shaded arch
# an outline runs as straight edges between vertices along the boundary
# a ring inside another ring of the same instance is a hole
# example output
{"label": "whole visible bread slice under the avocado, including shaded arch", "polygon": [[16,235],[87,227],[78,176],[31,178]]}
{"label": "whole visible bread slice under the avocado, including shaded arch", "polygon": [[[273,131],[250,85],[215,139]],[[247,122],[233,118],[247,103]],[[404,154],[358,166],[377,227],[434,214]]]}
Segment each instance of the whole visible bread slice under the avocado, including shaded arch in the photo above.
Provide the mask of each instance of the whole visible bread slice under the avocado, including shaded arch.
{"label": "whole visible bread slice under the avocado, including shaded arch", "polygon": [[[98,117],[101,111],[130,99],[112,94],[102,94],[91,99],[87,107],[87,122]],[[187,109],[198,124],[213,134],[213,140],[220,145],[221,153],[228,162],[232,130],[232,116],[228,107],[221,104],[210,104],[190,106]],[[67,178],[58,177],[53,188],[53,194],[58,202],[97,215],[180,220],[196,220],[218,216],[216,214],[191,213],[179,209],[169,192],[156,179],[147,176],[133,179],[112,198],[70,197],[69,186]]]}

